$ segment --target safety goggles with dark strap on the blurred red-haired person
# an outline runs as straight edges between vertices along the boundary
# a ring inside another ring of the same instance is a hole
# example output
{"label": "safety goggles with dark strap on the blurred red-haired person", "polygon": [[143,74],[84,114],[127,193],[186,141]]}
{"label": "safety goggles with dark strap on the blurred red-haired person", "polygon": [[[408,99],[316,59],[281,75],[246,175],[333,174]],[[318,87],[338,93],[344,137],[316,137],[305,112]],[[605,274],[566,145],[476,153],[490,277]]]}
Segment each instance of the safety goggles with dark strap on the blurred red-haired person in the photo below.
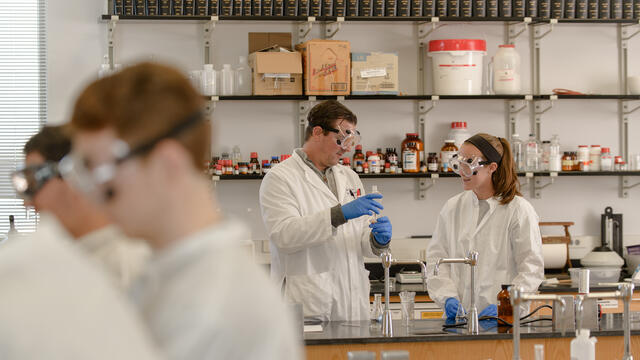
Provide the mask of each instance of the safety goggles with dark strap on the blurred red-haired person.
{"label": "safety goggles with dark strap on the blurred red-haired person", "polygon": [[186,129],[194,126],[203,119],[202,112],[197,111],[165,134],[151,139],[135,148],[130,148],[124,140],[117,139],[108,150],[110,160],[92,166],[82,155],[75,152],[65,156],[58,167],[63,178],[83,193],[98,202],[110,200],[115,190],[109,184],[115,178],[118,166],[125,161],[150,152],[160,141],[176,137]]}

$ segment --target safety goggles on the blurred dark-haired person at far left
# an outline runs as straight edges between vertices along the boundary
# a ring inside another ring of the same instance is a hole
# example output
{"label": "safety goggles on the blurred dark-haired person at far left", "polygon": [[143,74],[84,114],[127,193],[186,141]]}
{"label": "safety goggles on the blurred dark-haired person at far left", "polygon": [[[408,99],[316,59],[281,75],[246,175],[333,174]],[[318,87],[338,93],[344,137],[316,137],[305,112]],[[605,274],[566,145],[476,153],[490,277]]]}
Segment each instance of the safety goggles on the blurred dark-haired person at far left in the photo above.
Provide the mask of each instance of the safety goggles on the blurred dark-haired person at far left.
{"label": "safety goggles on the blurred dark-haired person at far left", "polygon": [[49,180],[56,177],[60,177],[57,164],[45,162],[14,171],[11,174],[11,184],[20,198],[31,200]]}

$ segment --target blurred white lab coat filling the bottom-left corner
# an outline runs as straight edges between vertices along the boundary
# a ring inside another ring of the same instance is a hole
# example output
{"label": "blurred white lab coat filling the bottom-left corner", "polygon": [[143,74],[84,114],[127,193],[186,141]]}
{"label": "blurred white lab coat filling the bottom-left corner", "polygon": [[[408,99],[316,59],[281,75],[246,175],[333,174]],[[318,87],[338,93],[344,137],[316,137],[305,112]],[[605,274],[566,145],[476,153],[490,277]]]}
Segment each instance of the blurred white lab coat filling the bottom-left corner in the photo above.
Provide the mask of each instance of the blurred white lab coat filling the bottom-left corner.
{"label": "blurred white lab coat filling the bottom-left corner", "polygon": [[52,215],[0,248],[0,359],[158,359],[134,307]]}

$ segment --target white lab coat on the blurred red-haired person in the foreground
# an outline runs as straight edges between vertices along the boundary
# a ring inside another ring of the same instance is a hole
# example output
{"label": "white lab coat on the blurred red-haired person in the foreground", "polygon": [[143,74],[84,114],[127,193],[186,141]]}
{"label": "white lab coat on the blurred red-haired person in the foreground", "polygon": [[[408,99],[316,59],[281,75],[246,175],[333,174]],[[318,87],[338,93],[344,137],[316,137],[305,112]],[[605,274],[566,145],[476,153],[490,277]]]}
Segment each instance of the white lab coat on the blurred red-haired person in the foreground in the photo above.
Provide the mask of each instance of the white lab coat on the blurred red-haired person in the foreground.
{"label": "white lab coat on the blurred red-haired person in the foreground", "polygon": [[301,358],[302,329],[248,239],[226,220],[153,255],[132,295],[169,359]]}

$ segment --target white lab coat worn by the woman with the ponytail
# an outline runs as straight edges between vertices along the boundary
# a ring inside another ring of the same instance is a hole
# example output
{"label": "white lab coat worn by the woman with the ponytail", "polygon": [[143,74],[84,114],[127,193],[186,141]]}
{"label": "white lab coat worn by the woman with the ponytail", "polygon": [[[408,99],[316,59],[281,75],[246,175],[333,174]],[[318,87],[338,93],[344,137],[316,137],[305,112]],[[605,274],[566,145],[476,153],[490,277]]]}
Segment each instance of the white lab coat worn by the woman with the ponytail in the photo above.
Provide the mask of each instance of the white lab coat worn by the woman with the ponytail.
{"label": "white lab coat worn by the woman with the ponytail", "polygon": [[[478,312],[497,304],[502,284],[536,291],[544,279],[542,239],[538,215],[533,206],[516,196],[509,204],[487,200],[489,210],[478,224],[478,198],[465,191],[449,199],[440,211],[433,238],[427,242],[427,256],[465,257],[478,251],[476,307]],[[427,283],[429,297],[444,308],[449,297],[458,298],[465,310],[471,304],[468,265],[443,264],[437,277]]]}

